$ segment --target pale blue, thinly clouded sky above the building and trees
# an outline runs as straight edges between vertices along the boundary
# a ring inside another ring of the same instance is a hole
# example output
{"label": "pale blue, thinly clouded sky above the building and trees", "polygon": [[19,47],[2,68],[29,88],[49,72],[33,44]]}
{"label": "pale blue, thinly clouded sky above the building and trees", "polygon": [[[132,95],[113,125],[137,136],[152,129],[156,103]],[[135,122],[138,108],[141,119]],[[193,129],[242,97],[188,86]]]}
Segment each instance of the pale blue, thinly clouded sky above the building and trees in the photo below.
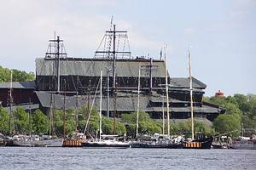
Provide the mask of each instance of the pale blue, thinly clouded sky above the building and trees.
{"label": "pale blue, thinly clouded sky above the building and trees", "polygon": [[35,72],[54,32],[69,57],[90,58],[113,22],[133,56],[160,59],[171,77],[192,75],[206,95],[256,94],[256,0],[0,0],[0,65]]}

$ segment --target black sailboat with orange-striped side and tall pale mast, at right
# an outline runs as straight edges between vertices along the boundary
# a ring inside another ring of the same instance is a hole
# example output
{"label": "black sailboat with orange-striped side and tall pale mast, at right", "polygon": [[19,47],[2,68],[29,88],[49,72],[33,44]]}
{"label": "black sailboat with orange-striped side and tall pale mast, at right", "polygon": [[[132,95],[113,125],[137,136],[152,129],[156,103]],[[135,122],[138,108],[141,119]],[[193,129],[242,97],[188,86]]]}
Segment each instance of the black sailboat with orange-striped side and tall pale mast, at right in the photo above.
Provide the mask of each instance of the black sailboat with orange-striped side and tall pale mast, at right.
{"label": "black sailboat with orange-striped side and tall pale mast, at right", "polygon": [[194,109],[193,109],[193,86],[191,76],[191,54],[189,48],[189,91],[190,91],[190,111],[191,111],[191,141],[184,141],[184,149],[211,149],[213,137],[195,139],[194,138]]}

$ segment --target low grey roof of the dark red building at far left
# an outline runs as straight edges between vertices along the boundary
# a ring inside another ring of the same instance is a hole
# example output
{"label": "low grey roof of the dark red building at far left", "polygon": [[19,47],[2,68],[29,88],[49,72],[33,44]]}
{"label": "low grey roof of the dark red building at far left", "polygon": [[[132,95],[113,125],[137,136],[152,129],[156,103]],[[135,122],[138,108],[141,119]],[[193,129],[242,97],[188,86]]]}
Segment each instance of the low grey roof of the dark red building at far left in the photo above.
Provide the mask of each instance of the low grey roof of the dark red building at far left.
{"label": "low grey roof of the dark red building at far left", "polygon": [[[1,82],[0,88],[10,88],[11,82]],[[35,82],[13,82],[12,88],[35,88]]]}

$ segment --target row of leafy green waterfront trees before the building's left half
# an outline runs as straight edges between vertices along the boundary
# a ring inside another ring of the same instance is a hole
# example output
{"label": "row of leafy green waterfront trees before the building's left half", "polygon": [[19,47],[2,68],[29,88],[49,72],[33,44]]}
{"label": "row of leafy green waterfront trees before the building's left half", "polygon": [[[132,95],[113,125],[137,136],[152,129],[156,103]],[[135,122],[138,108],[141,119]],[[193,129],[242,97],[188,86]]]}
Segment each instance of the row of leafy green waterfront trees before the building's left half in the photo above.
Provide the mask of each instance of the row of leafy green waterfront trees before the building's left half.
{"label": "row of leafy green waterfront trees before the building's left half", "polygon": [[[56,136],[63,135],[63,111],[53,110],[53,133]],[[78,122],[76,122],[76,114],[78,114]],[[70,109],[65,113],[65,133],[66,135],[72,135],[76,132],[84,133],[84,126],[88,118],[89,111],[83,107],[76,113],[75,110]],[[23,108],[18,107],[12,112],[14,117],[10,117],[9,113],[0,107],[0,133],[9,135],[9,133],[15,134],[49,134],[50,121],[49,113],[45,114],[40,110],[34,111],[32,114],[24,111]],[[11,118],[11,119],[10,119]],[[95,135],[99,130],[99,114],[96,110],[92,110],[90,115],[90,121],[88,125],[88,133]],[[11,123],[9,123],[11,122]],[[108,117],[102,117],[102,132],[111,134],[113,133],[113,120]],[[116,122],[116,133],[123,135],[126,133],[125,125],[120,122]]]}

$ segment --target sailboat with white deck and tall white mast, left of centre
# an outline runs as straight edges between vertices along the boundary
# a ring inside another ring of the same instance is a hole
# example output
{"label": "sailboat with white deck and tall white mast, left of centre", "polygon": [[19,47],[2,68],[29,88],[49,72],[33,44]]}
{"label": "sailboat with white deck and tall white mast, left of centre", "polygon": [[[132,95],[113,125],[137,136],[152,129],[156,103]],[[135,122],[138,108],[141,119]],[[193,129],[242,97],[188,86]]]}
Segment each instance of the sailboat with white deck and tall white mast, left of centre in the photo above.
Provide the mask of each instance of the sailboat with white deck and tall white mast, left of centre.
{"label": "sailboat with white deck and tall white mast, left of centre", "polygon": [[100,126],[99,139],[95,141],[83,141],[84,148],[129,148],[131,145],[127,142],[116,140],[117,135],[102,135],[102,71],[100,78]]}

